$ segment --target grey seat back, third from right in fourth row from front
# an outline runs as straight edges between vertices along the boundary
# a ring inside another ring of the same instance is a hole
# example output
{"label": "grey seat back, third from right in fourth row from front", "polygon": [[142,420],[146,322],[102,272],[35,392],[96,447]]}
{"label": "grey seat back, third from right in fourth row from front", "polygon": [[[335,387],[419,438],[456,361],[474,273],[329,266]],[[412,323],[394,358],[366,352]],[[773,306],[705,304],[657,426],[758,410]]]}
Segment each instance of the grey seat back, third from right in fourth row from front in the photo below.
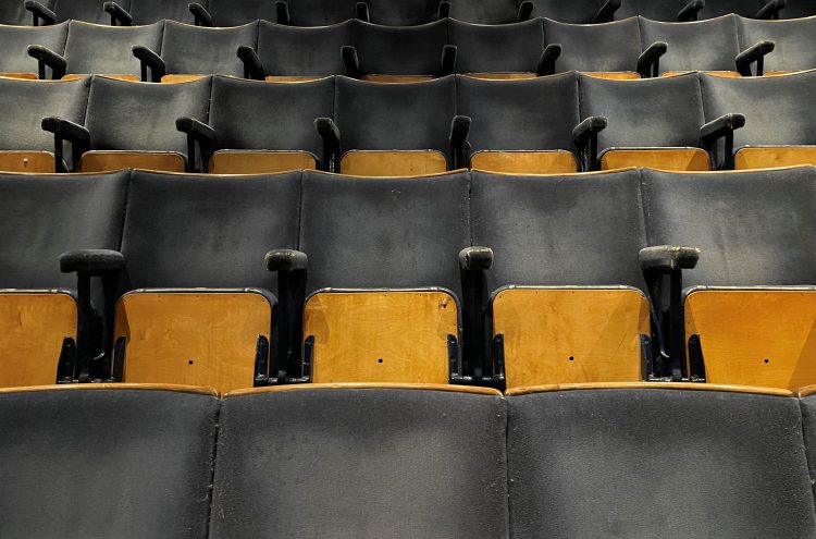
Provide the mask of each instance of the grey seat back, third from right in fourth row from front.
{"label": "grey seat back, third from right in fourth row from front", "polygon": [[544,20],[547,44],[559,44],[558,71],[634,71],[641,54],[636,19],[579,25]]}

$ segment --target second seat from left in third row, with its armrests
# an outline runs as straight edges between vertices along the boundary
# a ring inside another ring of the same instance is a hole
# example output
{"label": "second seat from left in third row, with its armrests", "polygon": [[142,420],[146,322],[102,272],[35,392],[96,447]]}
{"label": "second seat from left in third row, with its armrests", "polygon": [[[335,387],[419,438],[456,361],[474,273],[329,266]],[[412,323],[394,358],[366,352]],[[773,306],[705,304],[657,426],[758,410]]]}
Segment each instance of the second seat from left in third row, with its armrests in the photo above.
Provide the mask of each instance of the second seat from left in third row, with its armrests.
{"label": "second seat from left in third row, with its armrests", "polygon": [[84,125],[60,117],[42,119],[42,130],[54,135],[58,171],[63,140],[71,144],[79,172],[195,170],[198,158],[189,151],[196,146],[187,146],[175,120],[206,120],[210,85],[211,77],[172,85],[92,77]]}

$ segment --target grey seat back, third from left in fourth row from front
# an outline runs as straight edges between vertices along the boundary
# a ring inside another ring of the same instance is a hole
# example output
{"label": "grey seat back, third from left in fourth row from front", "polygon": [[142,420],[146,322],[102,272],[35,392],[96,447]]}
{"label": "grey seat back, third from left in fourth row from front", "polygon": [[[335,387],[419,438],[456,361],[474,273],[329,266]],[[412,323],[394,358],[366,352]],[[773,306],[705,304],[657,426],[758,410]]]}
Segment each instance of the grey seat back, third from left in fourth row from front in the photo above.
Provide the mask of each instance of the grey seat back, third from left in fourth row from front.
{"label": "grey seat back, third from left in fourth row from front", "polygon": [[242,45],[258,46],[258,23],[208,28],[168,21],[161,57],[168,73],[244,76],[244,64],[235,53]]}

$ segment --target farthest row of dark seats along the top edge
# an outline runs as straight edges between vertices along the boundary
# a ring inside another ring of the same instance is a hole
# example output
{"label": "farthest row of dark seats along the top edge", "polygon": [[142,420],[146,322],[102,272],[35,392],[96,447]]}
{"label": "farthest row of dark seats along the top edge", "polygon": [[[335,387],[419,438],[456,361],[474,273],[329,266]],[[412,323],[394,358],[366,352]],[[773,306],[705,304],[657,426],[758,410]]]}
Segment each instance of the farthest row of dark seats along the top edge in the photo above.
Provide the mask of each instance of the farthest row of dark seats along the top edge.
{"label": "farthest row of dark seats along the top edge", "polygon": [[726,14],[752,19],[816,15],[813,0],[2,0],[0,22],[35,26],[67,20],[112,25],[151,24],[164,19],[203,26],[238,26],[257,20],[325,26],[360,19],[411,26],[453,16],[477,24],[507,24],[532,15],[567,23],[607,23],[642,15],[688,22]]}

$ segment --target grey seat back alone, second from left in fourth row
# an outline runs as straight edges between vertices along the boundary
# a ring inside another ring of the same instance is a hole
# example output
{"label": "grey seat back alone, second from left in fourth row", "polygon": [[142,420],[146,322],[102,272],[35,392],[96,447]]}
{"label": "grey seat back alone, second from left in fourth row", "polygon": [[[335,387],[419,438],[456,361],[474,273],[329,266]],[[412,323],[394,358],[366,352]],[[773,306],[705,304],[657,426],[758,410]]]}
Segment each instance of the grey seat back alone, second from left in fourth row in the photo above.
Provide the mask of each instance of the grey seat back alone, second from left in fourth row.
{"label": "grey seat back alone, second from left in fourth row", "polygon": [[71,21],[65,42],[67,73],[138,76],[141,68],[133,56],[133,47],[141,45],[158,51],[163,28],[163,21],[148,26],[102,26]]}

